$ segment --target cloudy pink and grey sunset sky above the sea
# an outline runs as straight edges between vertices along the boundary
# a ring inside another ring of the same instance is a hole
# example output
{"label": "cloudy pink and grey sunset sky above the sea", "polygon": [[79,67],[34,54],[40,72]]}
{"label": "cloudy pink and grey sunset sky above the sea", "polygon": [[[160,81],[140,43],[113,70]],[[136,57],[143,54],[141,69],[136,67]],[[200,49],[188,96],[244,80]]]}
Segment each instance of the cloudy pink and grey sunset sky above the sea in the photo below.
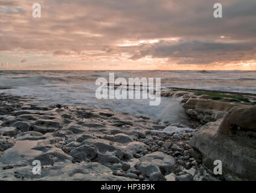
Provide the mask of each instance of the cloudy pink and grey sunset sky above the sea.
{"label": "cloudy pink and grey sunset sky above the sea", "polygon": [[0,69],[256,70],[256,1],[0,0]]}

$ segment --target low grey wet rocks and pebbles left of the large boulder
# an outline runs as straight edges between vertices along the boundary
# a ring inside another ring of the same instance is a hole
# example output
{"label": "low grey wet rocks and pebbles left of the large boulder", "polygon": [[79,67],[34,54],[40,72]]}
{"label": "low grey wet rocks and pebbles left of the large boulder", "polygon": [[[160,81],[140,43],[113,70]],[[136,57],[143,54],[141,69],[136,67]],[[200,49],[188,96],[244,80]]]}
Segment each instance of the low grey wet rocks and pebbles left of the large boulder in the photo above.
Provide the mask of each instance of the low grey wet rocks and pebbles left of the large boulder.
{"label": "low grey wet rocks and pebbles left of the large boulder", "polygon": [[5,93],[0,103],[0,180],[223,180],[194,157],[194,125]]}

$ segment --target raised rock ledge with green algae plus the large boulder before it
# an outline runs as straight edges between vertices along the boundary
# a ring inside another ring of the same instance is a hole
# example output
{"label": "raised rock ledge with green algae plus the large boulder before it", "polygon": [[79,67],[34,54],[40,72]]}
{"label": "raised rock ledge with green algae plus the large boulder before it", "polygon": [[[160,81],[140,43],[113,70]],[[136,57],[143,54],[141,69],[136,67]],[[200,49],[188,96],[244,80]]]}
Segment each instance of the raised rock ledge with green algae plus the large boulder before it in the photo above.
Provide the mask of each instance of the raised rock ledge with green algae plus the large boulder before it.
{"label": "raised rock ledge with green algae plus the large boulder before it", "polygon": [[163,96],[182,96],[181,105],[195,132],[193,157],[213,171],[221,160],[223,180],[256,180],[256,97],[250,93],[172,89]]}

